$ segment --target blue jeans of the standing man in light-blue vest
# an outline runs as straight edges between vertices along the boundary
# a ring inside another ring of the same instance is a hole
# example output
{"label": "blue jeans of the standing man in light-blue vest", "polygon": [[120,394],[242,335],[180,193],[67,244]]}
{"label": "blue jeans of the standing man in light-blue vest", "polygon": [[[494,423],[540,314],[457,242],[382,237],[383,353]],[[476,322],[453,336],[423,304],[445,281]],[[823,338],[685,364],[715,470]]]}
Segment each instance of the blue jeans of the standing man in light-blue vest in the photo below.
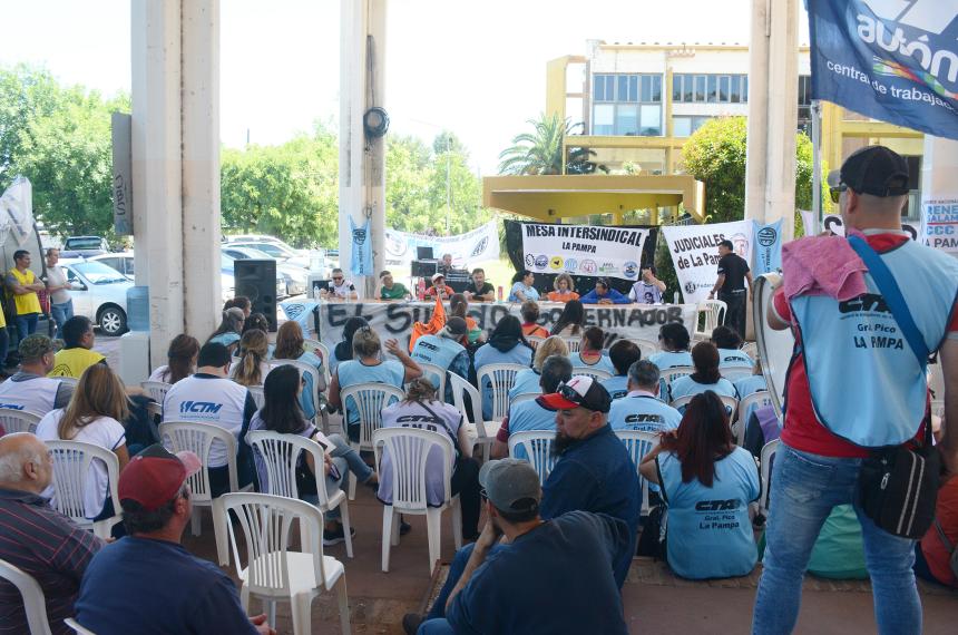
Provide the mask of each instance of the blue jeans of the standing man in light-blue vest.
{"label": "blue jeans of the standing man in light-blue vest", "polygon": [[861,510],[861,459],[821,457],[784,443],[772,467],[764,572],[755,598],[752,633],[791,633],[799,617],[802,579],[819,530],[837,505],[851,504],[861,522],[880,634],[921,633],[921,600],[915,583],[915,540],[880,529]]}

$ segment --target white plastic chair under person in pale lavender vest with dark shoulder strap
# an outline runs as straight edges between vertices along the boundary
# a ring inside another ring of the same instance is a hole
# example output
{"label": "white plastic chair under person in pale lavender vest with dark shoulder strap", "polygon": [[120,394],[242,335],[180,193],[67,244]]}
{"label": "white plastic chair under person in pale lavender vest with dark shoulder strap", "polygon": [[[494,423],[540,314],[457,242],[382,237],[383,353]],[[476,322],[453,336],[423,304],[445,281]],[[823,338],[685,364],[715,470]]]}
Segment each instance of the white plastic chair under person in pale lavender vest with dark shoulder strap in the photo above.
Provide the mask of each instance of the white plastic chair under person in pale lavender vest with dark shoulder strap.
{"label": "white plastic chair under person in pale lavender vest with dark shoulder strap", "polygon": [[[429,540],[429,574],[439,559],[442,512],[452,510],[452,537],[456,548],[462,547],[462,510],[459,497],[452,496],[452,462],[456,456],[452,439],[446,434],[417,428],[380,428],[373,432],[377,471],[382,473],[383,452],[389,453],[392,468],[392,505],[382,509],[382,570],[389,572],[389,551],[399,545],[399,514],[426,516]],[[442,505],[430,507],[426,494],[427,459],[433,448],[442,452]]]}

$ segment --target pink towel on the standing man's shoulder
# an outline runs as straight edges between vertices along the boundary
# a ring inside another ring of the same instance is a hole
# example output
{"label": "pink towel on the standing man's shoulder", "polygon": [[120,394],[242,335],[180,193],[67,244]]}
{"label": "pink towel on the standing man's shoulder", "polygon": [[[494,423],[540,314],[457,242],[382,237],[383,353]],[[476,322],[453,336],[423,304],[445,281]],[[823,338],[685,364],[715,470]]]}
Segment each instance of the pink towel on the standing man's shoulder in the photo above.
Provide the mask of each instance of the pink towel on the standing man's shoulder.
{"label": "pink towel on the standing man's shoulder", "polygon": [[830,295],[838,301],[866,293],[868,267],[842,236],[809,236],[782,246],[785,299]]}

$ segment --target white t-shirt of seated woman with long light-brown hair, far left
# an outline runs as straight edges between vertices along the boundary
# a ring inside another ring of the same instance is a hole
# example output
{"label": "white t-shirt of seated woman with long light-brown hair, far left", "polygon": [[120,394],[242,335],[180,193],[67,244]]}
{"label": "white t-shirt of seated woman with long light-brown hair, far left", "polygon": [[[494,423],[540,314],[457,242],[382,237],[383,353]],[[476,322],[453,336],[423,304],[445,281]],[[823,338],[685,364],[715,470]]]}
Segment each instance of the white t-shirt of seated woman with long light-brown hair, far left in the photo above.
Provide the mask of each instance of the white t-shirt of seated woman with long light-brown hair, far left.
{"label": "white t-shirt of seated woman with long light-brown hair, far left", "polygon": [[[51,410],[47,413],[37,424],[37,437],[41,441],[59,440],[60,437],[57,434],[57,427],[60,424],[62,417],[62,410]],[[126,430],[116,419],[99,417],[82,428],[77,429],[76,436],[72,439],[65,440],[92,443],[114,452],[117,448],[126,444]],[[84,510],[87,518],[96,518],[102,511],[108,488],[109,476],[107,475],[107,466],[102,461],[94,459],[90,462],[90,471],[89,476],[87,476],[86,489],[84,491]],[[48,487],[42,496],[52,498],[53,487]],[[118,507],[118,501],[114,501],[114,505]],[[119,510],[117,509],[117,511]]]}

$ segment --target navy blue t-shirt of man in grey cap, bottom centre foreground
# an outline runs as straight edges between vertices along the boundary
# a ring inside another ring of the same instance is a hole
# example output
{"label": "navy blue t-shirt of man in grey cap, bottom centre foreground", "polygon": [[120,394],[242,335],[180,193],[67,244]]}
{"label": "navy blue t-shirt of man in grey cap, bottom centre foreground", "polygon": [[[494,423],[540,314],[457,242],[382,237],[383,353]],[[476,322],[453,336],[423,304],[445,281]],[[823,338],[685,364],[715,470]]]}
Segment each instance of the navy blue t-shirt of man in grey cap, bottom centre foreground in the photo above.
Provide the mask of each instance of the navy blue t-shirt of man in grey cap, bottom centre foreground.
{"label": "navy blue t-shirt of man in grey cap, bottom centre foreground", "polygon": [[446,618],[456,633],[627,633],[613,563],[633,534],[604,514],[548,520],[490,553]]}

